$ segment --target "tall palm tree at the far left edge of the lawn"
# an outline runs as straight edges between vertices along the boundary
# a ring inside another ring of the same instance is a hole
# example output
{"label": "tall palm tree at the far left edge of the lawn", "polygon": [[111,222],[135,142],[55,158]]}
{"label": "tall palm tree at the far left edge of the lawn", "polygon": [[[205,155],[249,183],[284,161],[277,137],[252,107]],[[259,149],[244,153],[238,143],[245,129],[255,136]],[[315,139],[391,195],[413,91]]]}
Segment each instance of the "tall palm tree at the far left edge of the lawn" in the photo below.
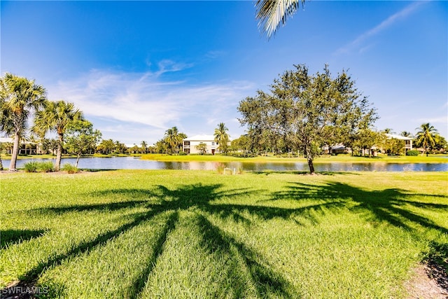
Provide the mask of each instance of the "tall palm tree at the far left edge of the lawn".
{"label": "tall palm tree at the far left edge of the lawn", "polygon": [[6,132],[6,127],[14,136],[13,153],[9,169],[15,170],[19,153],[20,139],[27,130],[28,116],[32,111],[38,111],[45,102],[45,88],[36,85],[34,80],[6,73],[0,78],[1,98],[1,127]]}

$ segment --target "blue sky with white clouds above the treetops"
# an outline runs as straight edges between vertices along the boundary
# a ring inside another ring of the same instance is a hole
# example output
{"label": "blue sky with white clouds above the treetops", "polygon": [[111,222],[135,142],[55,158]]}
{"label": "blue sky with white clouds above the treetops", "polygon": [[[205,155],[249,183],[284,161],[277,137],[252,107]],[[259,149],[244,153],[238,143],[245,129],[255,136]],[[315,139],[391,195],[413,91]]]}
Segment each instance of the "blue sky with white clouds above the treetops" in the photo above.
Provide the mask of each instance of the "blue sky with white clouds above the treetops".
{"label": "blue sky with white clouds above the treetops", "polygon": [[272,38],[253,1],[1,1],[1,74],[33,78],[104,139],[153,144],[225,123],[293,64],[348,70],[378,130],[448,137],[448,1],[307,1]]}

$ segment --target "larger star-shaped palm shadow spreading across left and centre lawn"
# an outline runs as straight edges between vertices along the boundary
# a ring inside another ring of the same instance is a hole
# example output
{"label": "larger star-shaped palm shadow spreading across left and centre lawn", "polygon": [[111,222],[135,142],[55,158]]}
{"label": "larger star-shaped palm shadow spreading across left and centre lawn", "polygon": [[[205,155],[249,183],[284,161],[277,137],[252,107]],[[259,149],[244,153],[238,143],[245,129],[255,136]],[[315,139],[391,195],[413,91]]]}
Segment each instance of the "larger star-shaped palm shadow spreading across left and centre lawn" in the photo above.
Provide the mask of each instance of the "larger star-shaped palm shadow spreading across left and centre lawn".
{"label": "larger star-shaped palm shadow spreading across left and centre lawn", "polygon": [[[233,221],[237,223],[244,223],[246,225],[251,224],[251,220],[247,218],[247,215],[258,216],[259,218],[268,220],[272,218],[284,218],[290,219],[296,214],[305,214],[309,207],[300,209],[283,209],[278,207],[265,207],[261,205],[249,205],[249,204],[220,204],[218,200],[221,199],[235,199],[239,196],[256,195],[261,193],[261,190],[251,190],[247,188],[234,189],[234,190],[222,190],[221,184],[215,185],[184,185],[179,186],[173,190],[165,186],[155,186],[151,189],[138,189],[138,188],[117,188],[97,191],[95,193],[90,193],[90,196],[97,197],[113,197],[117,194],[121,198],[129,199],[120,202],[109,202],[106,204],[74,204],[65,207],[45,207],[41,209],[33,209],[31,213],[38,214],[64,214],[71,212],[83,213],[85,211],[99,211],[104,213],[109,213],[111,211],[127,211],[134,207],[141,207],[145,210],[139,209],[139,212],[134,213],[124,213],[123,217],[129,219],[128,222],[115,230],[110,230],[102,234],[97,235],[93,239],[81,242],[76,246],[73,246],[69,251],[60,253],[56,256],[48,258],[48,260],[43,260],[38,263],[36,267],[27,271],[25,274],[20,276],[20,284],[18,286],[27,285],[31,281],[36,281],[38,277],[49,267],[55,267],[60,265],[64,260],[76,256],[80,253],[88,252],[98,246],[103,246],[109,240],[115,238],[127,230],[134,228],[143,221],[148,221],[149,219],[161,214],[165,211],[203,211],[208,214],[214,214],[220,218],[232,218]],[[314,208],[319,206],[337,204],[326,202],[323,204],[316,204]],[[170,218],[168,221],[164,232],[160,235],[157,244],[155,244],[155,253],[151,259],[151,263],[147,267],[141,269],[141,274],[139,278],[135,281],[134,286],[129,291],[130,294],[138,295],[138,293],[143,289],[144,283],[148,279],[148,276],[153,271],[153,266],[157,262],[158,257],[162,253],[162,245],[167,239],[169,232],[175,227],[178,221],[177,216]],[[209,225],[209,230],[211,232],[216,232],[218,235],[223,236],[223,232],[218,230],[214,226]],[[204,234],[204,238],[207,238],[207,234]],[[246,260],[246,264],[249,269],[251,269],[252,276],[258,281],[264,281],[262,284],[271,286],[272,288],[281,290],[281,285],[284,284],[284,280],[279,279],[278,275],[274,275],[273,272],[269,272],[268,268],[262,266],[257,261],[254,260],[253,256],[256,256],[250,249],[246,248],[244,244],[241,244],[231,237],[222,237],[224,245],[222,250],[225,250],[228,245],[233,244],[240,251],[241,256]],[[207,242],[207,240],[206,240]],[[261,287],[261,286],[260,286]],[[259,290],[259,293],[265,291]],[[135,296],[134,296],[135,297]]]}

